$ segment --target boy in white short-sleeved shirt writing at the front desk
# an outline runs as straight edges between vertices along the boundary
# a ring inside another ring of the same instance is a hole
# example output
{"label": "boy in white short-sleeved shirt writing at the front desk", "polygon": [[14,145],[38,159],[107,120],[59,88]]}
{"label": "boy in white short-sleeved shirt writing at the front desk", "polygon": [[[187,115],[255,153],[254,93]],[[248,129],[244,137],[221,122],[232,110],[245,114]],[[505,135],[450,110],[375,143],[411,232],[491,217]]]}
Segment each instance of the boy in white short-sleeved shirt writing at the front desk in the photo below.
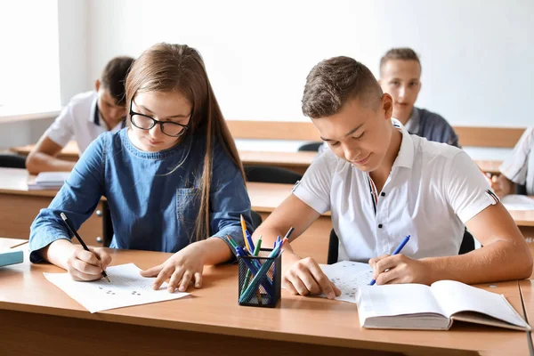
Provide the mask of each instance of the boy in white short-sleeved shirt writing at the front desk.
{"label": "boy in white short-sleeved shirt writing at the front desk", "polygon": [[[255,231],[266,246],[291,226],[298,237],[331,211],[340,259],[369,262],[376,284],[530,276],[530,249],[478,167],[463,150],[392,121],[392,97],[363,64],[321,61],[307,77],[302,106],[330,150]],[[458,255],[464,224],[483,247]],[[388,255],[406,235],[401,254]],[[284,249],[283,287],[340,293],[312,258],[301,259],[289,244]]]}

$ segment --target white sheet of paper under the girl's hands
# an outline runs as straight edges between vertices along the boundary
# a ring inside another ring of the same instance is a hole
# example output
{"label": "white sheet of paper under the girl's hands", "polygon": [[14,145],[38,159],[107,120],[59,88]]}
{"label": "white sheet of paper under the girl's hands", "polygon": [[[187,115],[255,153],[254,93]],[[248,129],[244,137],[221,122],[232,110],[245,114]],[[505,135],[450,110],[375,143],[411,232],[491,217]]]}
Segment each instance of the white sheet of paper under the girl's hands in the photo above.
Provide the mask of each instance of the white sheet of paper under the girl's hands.
{"label": "white sheet of paper under the girl's hands", "polygon": [[56,287],[82,304],[89,312],[101,312],[130,305],[163,302],[182,298],[189,293],[166,290],[166,283],[159,290],[152,289],[156,278],[145,278],[141,269],[134,263],[108,267],[111,283],[106,279],[92,282],[79,282],[70,278],[69,273],[43,273]]}

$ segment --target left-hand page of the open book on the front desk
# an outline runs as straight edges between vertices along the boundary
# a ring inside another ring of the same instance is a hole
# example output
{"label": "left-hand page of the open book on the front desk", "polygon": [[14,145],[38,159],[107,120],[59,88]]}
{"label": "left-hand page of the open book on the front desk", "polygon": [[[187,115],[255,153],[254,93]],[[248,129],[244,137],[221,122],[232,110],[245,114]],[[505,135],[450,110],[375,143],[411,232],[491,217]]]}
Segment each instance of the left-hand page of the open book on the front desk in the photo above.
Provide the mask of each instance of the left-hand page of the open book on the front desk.
{"label": "left-hand page of the open book on the front desk", "polygon": [[356,303],[360,324],[367,318],[435,313],[443,315],[430,287],[422,284],[391,284],[359,287]]}

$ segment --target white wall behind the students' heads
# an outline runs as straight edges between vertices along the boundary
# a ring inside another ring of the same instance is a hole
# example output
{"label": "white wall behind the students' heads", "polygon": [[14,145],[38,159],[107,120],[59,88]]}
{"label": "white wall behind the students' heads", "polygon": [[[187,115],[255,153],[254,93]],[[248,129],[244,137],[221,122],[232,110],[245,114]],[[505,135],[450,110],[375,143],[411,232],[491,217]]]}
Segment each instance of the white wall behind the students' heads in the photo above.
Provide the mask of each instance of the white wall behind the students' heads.
{"label": "white wall behind the students' heads", "polygon": [[89,3],[87,69],[161,41],[196,47],[231,119],[303,120],[305,77],[349,55],[377,74],[392,46],[421,54],[417,105],[453,125],[531,125],[531,0],[141,1]]}

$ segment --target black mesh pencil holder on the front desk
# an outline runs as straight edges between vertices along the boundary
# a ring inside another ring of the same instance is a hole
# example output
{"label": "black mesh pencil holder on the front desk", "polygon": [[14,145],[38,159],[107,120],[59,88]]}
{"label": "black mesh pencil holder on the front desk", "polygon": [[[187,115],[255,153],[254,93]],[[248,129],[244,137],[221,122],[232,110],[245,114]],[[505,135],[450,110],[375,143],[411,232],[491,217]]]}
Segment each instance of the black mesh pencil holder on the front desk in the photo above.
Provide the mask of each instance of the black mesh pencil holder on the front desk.
{"label": "black mesh pencil holder on the front desk", "polygon": [[262,248],[257,256],[238,257],[239,305],[274,308],[280,299],[281,254],[269,257],[271,249]]}

